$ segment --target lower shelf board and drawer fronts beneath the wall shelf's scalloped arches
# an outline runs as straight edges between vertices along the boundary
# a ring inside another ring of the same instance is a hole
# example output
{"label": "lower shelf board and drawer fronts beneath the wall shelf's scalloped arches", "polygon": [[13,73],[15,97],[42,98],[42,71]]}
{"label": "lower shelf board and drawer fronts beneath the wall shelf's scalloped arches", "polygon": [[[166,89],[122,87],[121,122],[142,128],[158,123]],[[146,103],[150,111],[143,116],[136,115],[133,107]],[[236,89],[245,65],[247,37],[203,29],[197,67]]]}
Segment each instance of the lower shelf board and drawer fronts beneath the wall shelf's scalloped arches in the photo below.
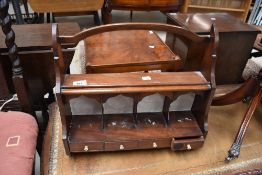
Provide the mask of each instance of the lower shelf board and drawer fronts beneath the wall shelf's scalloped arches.
{"label": "lower shelf board and drawer fronts beneath the wall shelf's scalloped arches", "polygon": [[170,148],[172,142],[177,145],[192,140],[190,149],[194,149],[204,141],[191,111],[170,112],[168,124],[162,113],[138,113],[137,122],[133,114],[104,115],[104,129],[101,120],[101,115],[72,117],[68,137],[71,152]]}

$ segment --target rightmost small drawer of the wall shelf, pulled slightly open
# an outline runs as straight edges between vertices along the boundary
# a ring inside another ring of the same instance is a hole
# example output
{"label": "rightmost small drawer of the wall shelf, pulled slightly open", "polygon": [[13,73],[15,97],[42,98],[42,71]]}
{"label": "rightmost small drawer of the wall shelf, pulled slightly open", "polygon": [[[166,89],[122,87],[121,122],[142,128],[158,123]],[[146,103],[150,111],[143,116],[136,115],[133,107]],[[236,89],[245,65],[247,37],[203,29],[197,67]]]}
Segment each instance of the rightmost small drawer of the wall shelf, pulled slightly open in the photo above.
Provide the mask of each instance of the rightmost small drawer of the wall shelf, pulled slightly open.
{"label": "rightmost small drawer of the wall shelf, pulled slightly open", "polygon": [[173,151],[191,150],[200,148],[204,144],[204,137],[191,139],[173,139],[171,142],[171,149]]}

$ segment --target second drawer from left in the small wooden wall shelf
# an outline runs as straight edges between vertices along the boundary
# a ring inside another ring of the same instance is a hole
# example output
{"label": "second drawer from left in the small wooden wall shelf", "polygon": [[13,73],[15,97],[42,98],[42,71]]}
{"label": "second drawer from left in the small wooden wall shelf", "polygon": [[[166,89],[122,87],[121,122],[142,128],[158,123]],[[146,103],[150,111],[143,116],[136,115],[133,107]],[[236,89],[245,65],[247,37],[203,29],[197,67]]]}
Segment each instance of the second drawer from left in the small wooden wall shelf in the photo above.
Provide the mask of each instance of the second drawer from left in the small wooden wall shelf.
{"label": "second drawer from left in the small wooden wall shelf", "polygon": [[106,142],[105,151],[125,151],[138,149],[137,141]]}

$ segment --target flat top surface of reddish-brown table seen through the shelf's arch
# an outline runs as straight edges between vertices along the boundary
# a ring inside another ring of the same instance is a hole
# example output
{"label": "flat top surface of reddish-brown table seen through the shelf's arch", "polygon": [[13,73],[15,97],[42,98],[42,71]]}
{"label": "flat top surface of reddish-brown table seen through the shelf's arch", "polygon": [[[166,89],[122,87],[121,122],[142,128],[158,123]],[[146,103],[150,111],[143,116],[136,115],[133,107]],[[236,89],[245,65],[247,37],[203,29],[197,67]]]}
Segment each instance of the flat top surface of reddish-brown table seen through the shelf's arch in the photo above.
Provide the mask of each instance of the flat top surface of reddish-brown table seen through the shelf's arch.
{"label": "flat top surface of reddish-brown table seen through the shelf's arch", "polygon": [[113,31],[85,39],[87,66],[179,61],[153,31]]}

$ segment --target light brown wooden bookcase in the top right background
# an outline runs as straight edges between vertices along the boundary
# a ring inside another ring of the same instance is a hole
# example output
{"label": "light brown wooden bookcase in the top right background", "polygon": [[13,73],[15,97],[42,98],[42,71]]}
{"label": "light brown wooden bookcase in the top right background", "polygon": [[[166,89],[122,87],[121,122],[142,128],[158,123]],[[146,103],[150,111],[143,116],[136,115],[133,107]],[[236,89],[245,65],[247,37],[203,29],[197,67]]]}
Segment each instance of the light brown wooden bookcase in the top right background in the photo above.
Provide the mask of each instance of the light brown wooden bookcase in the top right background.
{"label": "light brown wooden bookcase in the top right background", "polygon": [[226,12],[245,21],[252,0],[185,0],[185,13]]}

